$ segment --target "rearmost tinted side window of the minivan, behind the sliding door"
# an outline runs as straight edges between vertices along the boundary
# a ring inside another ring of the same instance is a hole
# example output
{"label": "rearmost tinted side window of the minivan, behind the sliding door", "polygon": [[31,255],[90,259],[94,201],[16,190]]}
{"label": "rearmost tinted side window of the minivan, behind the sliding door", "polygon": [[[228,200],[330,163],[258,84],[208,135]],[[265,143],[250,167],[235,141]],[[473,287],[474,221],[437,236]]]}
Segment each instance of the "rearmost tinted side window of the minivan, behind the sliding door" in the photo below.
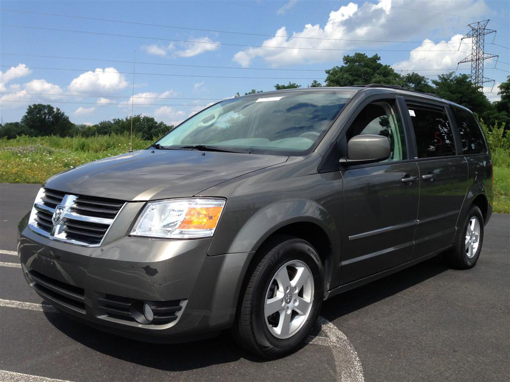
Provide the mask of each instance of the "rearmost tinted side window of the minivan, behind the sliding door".
{"label": "rearmost tinted side window of the minivan, behind the sliding door", "polygon": [[451,106],[451,111],[461,134],[463,154],[486,153],[487,147],[475,117],[460,107]]}

